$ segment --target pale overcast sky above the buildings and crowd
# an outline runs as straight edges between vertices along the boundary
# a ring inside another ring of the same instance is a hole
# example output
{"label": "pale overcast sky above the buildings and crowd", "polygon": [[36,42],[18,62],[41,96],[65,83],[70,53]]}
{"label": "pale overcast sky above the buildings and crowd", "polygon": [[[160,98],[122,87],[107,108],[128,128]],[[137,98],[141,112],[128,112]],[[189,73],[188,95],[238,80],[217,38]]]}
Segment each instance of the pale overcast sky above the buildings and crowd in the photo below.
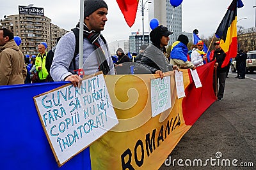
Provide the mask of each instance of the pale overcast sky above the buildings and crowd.
{"label": "pale overcast sky above the buildings and crowd", "polygon": [[[107,41],[116,41],[128,39],[131,32],[142,32],[141,11],[137,11],[134,25],[130,28],[118,8],[115,0],[105,0],[108,4],[108,22],[105,25],[102,34]],[[166,0],[155,0],[166,1]],[[199,36],[211,36],[216,31],[223,16],[225,15],[228,5],[232,0],[183,0],[182,2],[182,31],[192,32],[198,29]],[[237,10],[237,25],[244,28],[255,27],[255,8],[256,0],[242,0],[243,8]],[[16,15],[19,13],[18,6],[27,6],[34,4],[35,7],[44,8],[46,17],[51,18],[52,23],[70,31],[79,20],[79,0],[12,0],[4,1],[0,6],[0,18],[4,15]],[[152,19],[152,18],[150,18]],[[148,12],[144,17],[145,32],[148,32]]]}

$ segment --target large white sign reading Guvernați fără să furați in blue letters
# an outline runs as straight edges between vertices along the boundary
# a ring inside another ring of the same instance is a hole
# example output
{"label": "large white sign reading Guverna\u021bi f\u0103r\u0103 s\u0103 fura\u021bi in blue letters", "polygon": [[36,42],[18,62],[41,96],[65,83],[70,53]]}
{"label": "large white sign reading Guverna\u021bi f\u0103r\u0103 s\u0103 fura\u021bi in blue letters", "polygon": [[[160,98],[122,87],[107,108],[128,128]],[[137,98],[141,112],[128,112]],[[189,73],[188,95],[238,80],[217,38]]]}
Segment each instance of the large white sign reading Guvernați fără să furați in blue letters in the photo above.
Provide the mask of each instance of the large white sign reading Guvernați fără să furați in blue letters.
{"label": "large white sign reading Guverna\u021bi f\u0103r\u0103 s\u0103 fura\u021bi in blue letters", "polygon": [[118,124],[102,74],[34,97],[58,166]]}

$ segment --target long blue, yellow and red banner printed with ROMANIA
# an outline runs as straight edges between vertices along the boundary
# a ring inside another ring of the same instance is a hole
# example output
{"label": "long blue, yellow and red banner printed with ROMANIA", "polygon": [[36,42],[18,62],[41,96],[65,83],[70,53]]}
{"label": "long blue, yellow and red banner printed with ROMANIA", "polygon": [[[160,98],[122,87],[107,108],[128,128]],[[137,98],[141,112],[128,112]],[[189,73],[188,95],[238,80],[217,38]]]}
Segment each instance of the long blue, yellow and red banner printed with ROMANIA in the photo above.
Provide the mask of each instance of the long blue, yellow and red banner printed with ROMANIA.
{"label": "long blue, yellow and red banner printed with ROMANIA", "polygon": [[196,67],[202,83],[197,89],[189,69],[182,69],[186,97],[180,99],[174,71],[164,73],[170,76],[166,83],[170,83],[172,106],[156,117],[152,117],[154,98],[150,96],[150,80],[158,78],[156,74],[106,75],[119,124],[61,167],[47,141],[33,97],[68,82],[2,86],[0,132],[6,138],[0,145],[1,169],[159,169],[182,136],[216,100],[213,67],[214,62]]}

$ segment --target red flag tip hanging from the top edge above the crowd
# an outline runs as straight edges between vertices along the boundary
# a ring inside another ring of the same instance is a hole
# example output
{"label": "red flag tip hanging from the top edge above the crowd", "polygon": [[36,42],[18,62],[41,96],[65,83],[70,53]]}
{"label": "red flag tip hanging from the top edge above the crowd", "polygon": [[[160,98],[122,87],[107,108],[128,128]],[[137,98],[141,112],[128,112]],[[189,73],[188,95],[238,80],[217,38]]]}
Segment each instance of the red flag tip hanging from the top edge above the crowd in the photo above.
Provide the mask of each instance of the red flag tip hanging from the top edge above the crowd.
{"label": "red flag tip hanging from the top edge above the crowd", "polygon": [[126,23],[131,27],[135,22],[139,0],[116,0],[116,2],[124,15]]}

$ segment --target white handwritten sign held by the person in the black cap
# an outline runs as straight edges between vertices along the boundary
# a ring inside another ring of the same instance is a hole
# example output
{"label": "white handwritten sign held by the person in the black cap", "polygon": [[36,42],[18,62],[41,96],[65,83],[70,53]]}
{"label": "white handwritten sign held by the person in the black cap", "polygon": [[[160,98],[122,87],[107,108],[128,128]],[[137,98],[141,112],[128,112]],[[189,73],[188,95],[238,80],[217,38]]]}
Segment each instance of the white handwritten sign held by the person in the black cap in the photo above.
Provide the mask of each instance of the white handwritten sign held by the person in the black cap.
{"label": "white handwritten sign held by the person in the black cap", "polygon": [[160,78],[152,79],[150,87],[152,117],[156,117],[172,106],[170,76],[165,76],[162,80]]}

